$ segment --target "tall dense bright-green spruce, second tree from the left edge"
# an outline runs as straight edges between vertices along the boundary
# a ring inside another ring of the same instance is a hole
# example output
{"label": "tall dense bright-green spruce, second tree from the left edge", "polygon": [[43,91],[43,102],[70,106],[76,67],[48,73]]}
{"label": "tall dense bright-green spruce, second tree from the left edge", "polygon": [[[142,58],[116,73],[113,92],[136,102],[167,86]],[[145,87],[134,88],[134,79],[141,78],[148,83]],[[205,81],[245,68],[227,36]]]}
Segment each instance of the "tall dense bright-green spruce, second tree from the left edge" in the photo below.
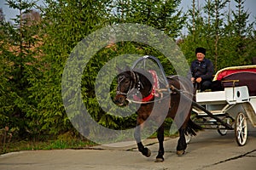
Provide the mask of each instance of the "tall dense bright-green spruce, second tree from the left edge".
{"label": "tall dense bright-green spruce, second tree from the left edge", "polygon": [[[61,98],[61,76],[67,58],[78,42],[109,23],[107,7],[111,1],[46,0],[45,3],[41,35],[44,55],[38,65],[41,72],[31,88],[32,98],[38,100],[38,111],[33,112],[32,117],[42,125],[43,133],[61,134],[73,130]],[[87,77],[83,81],[85,105],[88,102],[96,105],[96,99],[90,94],[94,91],[94,68],[101,65],[101,59],[93,64],[84,71],[84,77]],[[91,106],[91,111],[97,113],[98,107]]]}

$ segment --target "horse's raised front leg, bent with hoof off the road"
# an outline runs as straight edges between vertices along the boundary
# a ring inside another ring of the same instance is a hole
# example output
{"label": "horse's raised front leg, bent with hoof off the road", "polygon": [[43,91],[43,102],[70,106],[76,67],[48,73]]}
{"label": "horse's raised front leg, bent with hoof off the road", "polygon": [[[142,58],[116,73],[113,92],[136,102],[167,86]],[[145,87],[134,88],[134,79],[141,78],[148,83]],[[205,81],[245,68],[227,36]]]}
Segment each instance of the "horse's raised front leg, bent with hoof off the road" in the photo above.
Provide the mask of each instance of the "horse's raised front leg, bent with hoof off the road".
{"label": "horse's raised front leg, bent with hoof off the road", "polygon": [[142,130],[142,124],[137,123],[137,127],[135,128],[135,132],[134,132],[134,138],[136,139],[137,142],[137,148],[140,152],[142,152],[143,156],[151,156],[151,151],[144,147],[142,140],[141,140],[141,130]]}

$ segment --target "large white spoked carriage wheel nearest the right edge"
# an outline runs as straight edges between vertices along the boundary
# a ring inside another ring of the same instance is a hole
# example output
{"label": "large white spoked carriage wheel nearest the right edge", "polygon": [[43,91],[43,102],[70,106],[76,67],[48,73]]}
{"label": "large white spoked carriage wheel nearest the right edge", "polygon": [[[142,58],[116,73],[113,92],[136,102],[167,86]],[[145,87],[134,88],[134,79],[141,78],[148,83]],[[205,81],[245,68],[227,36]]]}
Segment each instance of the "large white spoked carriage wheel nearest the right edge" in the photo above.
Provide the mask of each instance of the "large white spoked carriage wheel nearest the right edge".
{"label": "large white spoked carriage wheel nearest the right edge", "polygon": [[235,124],[236,142],[238,145],[243,146],[247,142],[247,119],[243,113],[236,116]]}

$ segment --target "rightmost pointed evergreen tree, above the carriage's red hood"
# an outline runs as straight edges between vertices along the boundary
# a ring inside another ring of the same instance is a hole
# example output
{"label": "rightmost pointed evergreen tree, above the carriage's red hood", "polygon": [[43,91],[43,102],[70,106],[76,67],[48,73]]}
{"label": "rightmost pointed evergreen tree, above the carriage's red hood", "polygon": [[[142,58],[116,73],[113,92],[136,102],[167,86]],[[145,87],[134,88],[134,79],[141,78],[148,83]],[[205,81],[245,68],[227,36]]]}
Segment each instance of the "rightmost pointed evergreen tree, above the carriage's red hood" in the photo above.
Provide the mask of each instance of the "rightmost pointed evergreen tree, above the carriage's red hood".
{"label": "rightmost pointed evergreen tree, above the carriage's red hood", "polygon": [[244,1],[235,0],[236,8],[227,15],[224,36],[220,40],[222,62],[220,68],[227,65],[250,65],[255,50],[253,48],[253,23],[249,23],[249,14],[244,10]]}

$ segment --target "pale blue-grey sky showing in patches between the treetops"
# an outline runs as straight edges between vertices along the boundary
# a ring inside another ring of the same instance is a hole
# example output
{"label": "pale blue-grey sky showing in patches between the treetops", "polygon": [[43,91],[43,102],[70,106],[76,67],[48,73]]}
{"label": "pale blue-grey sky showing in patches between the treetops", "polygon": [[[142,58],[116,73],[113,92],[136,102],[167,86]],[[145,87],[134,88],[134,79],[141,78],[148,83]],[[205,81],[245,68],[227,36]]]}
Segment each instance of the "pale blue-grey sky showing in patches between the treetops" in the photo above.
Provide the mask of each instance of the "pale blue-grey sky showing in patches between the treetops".
{"label": "pale blue-grey sky showing in patches between the treetops", "polygon": [[[200,7],[202,6],[202,3],[205,2],[205,0],[196,0],[201,3]],[[28,2],[32,2],[32,0],[29,0]],[[38,5],[43,5],[43,0],[38,0]],[[182,0],[181,2],[181,8],[186,11],[188,8],[191,7],[192,0]],[[231,2],[234,2],[234,0]],[[17,10],[14,10],[12,8],[9,8],[7,5],[5,5],[5,0],[0,0],[0,8],[3,8],[3,14],[5,15],[5,20],[9,21],[11,18],[15,18],[15,15],[18,14]],[[231,5],[232,6],[232,5]],[[234,7],[234,4],[233,4]],[[255,20],[256,17],[256,0],[245,0],[244,3],[245,10],[247,10],[250,13],[250,22],[252,20]]]}

